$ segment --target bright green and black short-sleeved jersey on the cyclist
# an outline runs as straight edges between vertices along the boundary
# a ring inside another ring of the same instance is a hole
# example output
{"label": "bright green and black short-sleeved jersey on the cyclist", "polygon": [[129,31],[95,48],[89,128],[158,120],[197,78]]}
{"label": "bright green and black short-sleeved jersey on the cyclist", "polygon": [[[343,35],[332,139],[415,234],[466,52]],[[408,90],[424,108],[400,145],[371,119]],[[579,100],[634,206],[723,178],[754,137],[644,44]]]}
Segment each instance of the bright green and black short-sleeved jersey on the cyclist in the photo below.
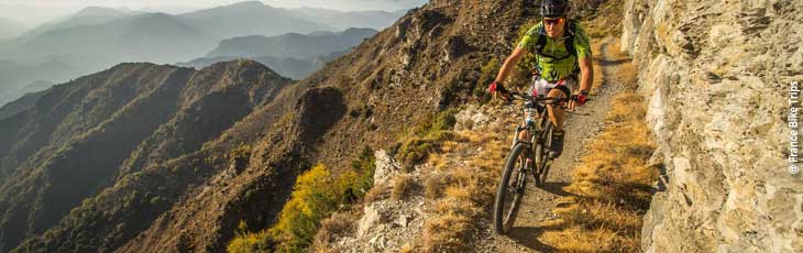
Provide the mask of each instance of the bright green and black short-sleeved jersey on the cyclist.
{"label": "bright green and black short-sleeved jersey on the cyclist", "polygon": [[[569,25],[566,25],[566,28]],[[539,56],[535,48],[536,42],[538,41],[539,36],[544,36],[547,38],[547,44],[543,46],[542,50],[544,54],[559,57],[568,55],[571,56],[558,61],[549,57]],[[564,35],[564,37],[556,40],[547,36],[546,32],[543,32],[543,22],[539,22],[527,32],[527,35],[525,35],[524,38],[521,38],[521,42],[518,43],[518,47],[525,48],[527,50],[527,52],[536,55],[536,67],[538,68],[537,70],[541,74],[541,78],[554,81],[566,78],[575,73],[575,70],[579,69],[578,58],[582,59],[592,56],[588,36],[585,35],[585,31],[580,25],[580,23],[576,23],[574,29],[573,44],[576,51],[576,57],[574,56],[575,54],[566,52],[566,45],[564,44],[564,40],[566,40],[566,37],[568,36]]]}

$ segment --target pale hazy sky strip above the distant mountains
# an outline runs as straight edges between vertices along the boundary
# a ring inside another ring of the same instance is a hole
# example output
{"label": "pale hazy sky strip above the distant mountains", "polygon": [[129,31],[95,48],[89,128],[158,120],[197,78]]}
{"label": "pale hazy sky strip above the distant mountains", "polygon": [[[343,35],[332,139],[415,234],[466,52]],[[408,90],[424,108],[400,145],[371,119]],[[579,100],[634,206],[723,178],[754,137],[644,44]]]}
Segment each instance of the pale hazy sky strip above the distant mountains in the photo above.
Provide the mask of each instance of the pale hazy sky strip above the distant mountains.
{"label": "pale hazy sky strip above the distant mountains", "polygon": [[[74,13],[85,7],[130,8],[132,10],[180,13],[226,6],[243,0],[0,0],[0,16],[29,26]],[[318,7],[334,10],[395,11],[421,6],[428,0],[262,0],[274,7]]]}

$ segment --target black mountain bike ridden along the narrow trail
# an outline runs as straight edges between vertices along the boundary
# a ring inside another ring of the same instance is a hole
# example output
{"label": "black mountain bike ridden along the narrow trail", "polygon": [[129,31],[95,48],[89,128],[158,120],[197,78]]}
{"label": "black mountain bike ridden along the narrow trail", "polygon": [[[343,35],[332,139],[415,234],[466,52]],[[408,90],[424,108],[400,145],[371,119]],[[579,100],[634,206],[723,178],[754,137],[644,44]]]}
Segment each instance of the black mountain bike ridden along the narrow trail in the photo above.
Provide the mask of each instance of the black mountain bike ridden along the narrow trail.
{"label": "black mountain bike ridden along the narrow trail", "polygon": [[[547,180],[552,157],[549,147],[554,128],[549,113],[548,105],[560,105],[565,108],[568,98],[548,98],[543,95],[534,97],[524,92],[510,91],[513,100],[524,100],[524,125],[516,125],[510,146],[510,154],[502,173],[502,180],[496,193],[494,204],[494,229],[496,233],[505,234],[510,231],[516,221],[518,209],[527,186],[527,175],[532,174],[536,186],[541,187]],[[519,140],[519,133],[525,132],[525,140]]]}

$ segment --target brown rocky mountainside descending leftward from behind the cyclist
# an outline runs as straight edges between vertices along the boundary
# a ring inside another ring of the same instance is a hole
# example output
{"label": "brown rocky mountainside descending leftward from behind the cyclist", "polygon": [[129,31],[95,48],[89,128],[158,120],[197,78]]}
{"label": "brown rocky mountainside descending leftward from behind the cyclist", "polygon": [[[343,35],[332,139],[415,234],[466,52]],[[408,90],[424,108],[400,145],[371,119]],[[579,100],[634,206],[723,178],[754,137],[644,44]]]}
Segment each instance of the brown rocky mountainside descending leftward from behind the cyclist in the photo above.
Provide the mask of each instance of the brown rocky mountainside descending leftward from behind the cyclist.
{"label": "brown rocky mountainside descending leftward from behind the cyclist", "polygon": [[[481,66],[507,52],[520,19],[532,15],[528,4],[433,1],[201,151],[124,177],[18,250],[219,252],[241,220],[274,222],[295,176],[311,163],[346,168],[364,145],[395,145],[407,129],[466,98]],[[250,152],[230,154],[239,143]]]}

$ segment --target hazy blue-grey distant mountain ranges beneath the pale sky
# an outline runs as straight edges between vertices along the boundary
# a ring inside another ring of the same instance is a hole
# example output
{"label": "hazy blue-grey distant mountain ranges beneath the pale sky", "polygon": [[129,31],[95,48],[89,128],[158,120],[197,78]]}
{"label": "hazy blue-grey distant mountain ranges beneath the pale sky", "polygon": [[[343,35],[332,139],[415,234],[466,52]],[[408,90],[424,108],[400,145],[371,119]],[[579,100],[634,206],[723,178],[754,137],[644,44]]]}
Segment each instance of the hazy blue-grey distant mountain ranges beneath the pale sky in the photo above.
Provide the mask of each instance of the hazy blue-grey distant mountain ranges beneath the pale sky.
{"label": "hazy blue-grey distant mountain ranges beneath the pale sky", "polygon": [[[212,58],[240,56],[237,54],[208,55],[208,53],[217,51],[212,50],[216,45],[229,44],[221,43],[221,41],[231,37],[251,35],[265,37],[286,33],[329,34],[326,32],[342,31],[346,26],[384,29],[400,15],[400,12],[384,11],[341,12],[310,8],[280,9],[256,1],[178,15],[87,8],[66,19],[34,28],[13,40],[0,42],[0,61],[16,66],[13,75],[0,75],[0,106],[10,99],[21,97],[23,94],[20,90],[35,80],[63,82],[68,78],[102,70],[122,62],[170,64],[204,55]],[[321,31],[323,33],[320,33]],[[366,30],[354,31],[364,32]],[[298,38],[299,42],[305,42],[302,36]],[[306,54],[304,57],[297,56],[299,59],[308,61],[310,57],[342,51],[341,47],[350,48],[361,40],[345,47],[340,42],[333,43],[332,45],[337,45],[333,46],[337,50],[327,47],[326,50],[306,48],[294,52],[315,52],[315,54]],[[237,43],[239,40],[232,38],[227,42]],[[310,45],[319,46],[320,44],[310,43]],[[251,50],[246,52],[251,52]],[[255,56],[271,55],[256,54]],[[288,59],[279,61],[288,62]],[[62,68],[36,69],[44,63],[61,63]],[[308,63],[302,65],[308,65]],[[296,74],[290,77],[298,78],[309,72],[299,68],[294,70]],[[64,73],[67,75],[62,75]]]}

